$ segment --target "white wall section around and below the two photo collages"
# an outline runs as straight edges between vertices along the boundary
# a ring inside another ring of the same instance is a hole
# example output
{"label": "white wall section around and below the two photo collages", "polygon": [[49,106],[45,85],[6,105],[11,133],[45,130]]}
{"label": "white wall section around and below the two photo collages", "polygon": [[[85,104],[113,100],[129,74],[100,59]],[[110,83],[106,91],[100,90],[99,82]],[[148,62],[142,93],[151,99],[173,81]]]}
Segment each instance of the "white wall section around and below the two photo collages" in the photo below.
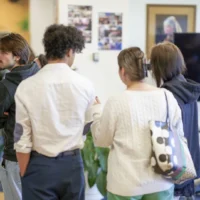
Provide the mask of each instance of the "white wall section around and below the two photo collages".
{"label": "white wall section around and below the two photo collages", "polygon": [[129,0],[60,0],[59,22],[67,24],[68,4],[93,6],[92,43],[86,45],[83,54],[77,55],[75,66],[78,72],[87,76],[95,85],[97,95],[105,102],[113,94],[124,89],[119,77],[117,66],[117,55],[119,51],[99,51],[98,63],[92,61],[92,53],[98,48],[98,13],[99,12],[121,12],[123,13],[123,46],[130,43],[129,31]]}

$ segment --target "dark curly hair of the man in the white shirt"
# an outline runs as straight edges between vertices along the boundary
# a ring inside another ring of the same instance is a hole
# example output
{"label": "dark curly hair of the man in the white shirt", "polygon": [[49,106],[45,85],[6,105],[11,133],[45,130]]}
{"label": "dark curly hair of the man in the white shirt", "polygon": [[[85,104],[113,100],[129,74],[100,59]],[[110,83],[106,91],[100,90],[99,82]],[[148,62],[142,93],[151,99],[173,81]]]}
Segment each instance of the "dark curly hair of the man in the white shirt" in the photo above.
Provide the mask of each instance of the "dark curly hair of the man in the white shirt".
{"label": "dark curly hair of the man in the white shirt", "polygon": [[75,27],[54,24],[46,29],[43,44],[48,60],[62,59],[70,49],[81,53],[85,48],[85,39]]}

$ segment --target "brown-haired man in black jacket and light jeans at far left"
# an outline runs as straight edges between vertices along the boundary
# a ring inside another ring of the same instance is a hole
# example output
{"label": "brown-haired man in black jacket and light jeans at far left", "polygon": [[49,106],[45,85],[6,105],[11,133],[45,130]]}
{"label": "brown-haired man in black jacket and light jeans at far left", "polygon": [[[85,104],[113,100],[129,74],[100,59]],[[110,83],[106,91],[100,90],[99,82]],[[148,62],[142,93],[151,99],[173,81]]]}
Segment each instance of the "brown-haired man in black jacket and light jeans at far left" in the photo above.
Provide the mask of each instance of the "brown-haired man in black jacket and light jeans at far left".
{"label": "brown-haired man in black jacket and light jeans at far left", "polygon": [[0,129],[4,129],[4,156],[0,166],[5,200],[21,200],[21,180],[14,150],[15,101],[18,85],[39,70],[36,63],[28,64],[29,45],[19,34],[8,33],[0,37],[0,69],[9,72],[0,81]]}

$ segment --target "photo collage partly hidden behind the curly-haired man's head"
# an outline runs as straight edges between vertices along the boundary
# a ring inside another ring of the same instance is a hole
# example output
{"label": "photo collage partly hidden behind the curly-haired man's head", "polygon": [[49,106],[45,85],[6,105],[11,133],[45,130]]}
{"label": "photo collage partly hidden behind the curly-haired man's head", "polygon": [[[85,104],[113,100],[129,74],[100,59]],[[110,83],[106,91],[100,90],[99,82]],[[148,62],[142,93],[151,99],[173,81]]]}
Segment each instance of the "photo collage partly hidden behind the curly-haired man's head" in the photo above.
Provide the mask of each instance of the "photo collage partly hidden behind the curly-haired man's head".
{"label": "photo collage partly hidden behind the curly-haired man's head", "polygon": [[92,6],[68,5],[68,25],[83,32],[86,43],[92,42]]}

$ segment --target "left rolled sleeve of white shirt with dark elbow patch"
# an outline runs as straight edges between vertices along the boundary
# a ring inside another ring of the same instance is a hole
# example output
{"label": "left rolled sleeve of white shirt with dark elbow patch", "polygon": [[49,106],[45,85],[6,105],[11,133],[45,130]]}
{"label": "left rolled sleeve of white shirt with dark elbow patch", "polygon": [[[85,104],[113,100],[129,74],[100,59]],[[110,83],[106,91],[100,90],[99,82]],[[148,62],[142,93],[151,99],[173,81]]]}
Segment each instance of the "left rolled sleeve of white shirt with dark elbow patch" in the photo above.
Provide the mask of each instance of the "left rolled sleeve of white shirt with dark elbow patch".
{"label": "left rolled sleeve of white shirt with dark elbow patch", "polygon": [[16,125],[14,130],[14,148],[19,153],[30,153],[32,150],[31,121],[19,90],[17,90],[15,95],[15,103]]}

